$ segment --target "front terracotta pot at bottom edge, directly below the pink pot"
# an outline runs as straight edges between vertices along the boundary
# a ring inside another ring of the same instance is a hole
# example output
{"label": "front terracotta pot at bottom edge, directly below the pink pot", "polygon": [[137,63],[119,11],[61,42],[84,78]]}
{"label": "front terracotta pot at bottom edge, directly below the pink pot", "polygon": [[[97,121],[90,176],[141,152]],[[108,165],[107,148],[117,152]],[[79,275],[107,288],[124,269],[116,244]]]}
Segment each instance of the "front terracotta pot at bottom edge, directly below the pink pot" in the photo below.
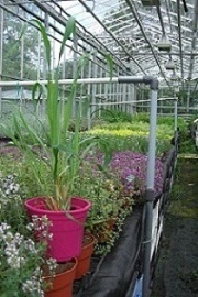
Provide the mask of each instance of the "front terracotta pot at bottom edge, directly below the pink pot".
{"label": "front terracotta pot at bottom edge, directly below the pink pot", "polygon": [[78,260],[74,258],[74,265],[68,270],[57,273],[55,276],[43,277],[46,282],[45,297],[72,297],[73,283],[76,275]]}

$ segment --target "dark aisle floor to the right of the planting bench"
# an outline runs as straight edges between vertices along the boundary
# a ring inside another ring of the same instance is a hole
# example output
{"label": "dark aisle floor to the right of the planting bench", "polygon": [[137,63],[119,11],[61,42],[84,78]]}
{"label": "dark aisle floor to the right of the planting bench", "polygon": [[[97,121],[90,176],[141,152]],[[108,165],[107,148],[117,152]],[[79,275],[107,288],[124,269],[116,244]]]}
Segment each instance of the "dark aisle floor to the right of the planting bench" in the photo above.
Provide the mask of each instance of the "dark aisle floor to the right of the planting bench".
{"label": "dark aisle floor to the right of the planting bench", "polygon": [[198,297],[198,160],[179,158],[152,297]]}

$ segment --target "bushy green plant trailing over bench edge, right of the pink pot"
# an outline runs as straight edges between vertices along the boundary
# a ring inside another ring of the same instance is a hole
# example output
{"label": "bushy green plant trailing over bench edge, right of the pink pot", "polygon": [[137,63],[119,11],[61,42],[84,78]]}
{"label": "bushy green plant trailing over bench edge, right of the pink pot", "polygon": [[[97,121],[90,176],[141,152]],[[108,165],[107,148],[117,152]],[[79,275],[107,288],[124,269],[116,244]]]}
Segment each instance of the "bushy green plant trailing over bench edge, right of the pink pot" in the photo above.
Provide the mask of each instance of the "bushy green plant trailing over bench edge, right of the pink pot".
{"label": "bushy green plant trailing over bench edge, right of the pink pot", "polygon": [[116,173],[98,168],[97,165],[101,163],[100,156],[101,154],[87,156],[87,163],[82,167],[84,174],[76,180],[78,193],[91,200],[86,231],[96,238],[97,256],[110,252],[122,230],[124,219],[132,211],[134,201],[133,193],[125,195]]}

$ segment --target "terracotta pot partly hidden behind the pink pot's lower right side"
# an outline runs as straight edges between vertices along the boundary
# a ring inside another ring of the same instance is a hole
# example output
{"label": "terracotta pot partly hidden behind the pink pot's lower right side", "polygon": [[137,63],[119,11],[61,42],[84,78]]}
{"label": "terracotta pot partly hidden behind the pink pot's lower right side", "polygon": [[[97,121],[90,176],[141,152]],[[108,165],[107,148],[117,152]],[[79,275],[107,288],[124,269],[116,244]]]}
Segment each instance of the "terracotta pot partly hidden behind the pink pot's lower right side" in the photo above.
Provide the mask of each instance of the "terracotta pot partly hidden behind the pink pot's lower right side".
{"label": "terracotta pot partly hidden behind the pink pot's lower right side", "polygon": [[85,244],[82,245],[81,253],[78,257],[75,279],[81,278],[87,272],[89,272],[91,255],[94,253],[96,242],[97,240],[95,239],[94,235],[91,234],[85,235]]}

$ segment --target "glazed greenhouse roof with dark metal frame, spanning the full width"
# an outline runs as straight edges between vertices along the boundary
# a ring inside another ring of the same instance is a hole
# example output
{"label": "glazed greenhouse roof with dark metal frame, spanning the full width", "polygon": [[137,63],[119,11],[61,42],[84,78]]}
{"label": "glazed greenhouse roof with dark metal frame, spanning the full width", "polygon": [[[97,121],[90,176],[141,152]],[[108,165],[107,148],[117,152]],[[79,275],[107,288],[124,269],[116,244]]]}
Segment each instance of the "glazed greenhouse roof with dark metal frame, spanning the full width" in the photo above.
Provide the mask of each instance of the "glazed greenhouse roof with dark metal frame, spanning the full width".
{"label": "glazed greenhouse roof with dark metal frame, spanning the full width", "polygon": [[47,13],[56,36],[75,16],[79,46],[95,48],[98,59],[109,51],[129,70],[121,74],[154,75],[167,85],[173,72],[183,84],[198,78],[198,0],[2,0],[0,7],[15,14],[18,7],[43,22]]}

